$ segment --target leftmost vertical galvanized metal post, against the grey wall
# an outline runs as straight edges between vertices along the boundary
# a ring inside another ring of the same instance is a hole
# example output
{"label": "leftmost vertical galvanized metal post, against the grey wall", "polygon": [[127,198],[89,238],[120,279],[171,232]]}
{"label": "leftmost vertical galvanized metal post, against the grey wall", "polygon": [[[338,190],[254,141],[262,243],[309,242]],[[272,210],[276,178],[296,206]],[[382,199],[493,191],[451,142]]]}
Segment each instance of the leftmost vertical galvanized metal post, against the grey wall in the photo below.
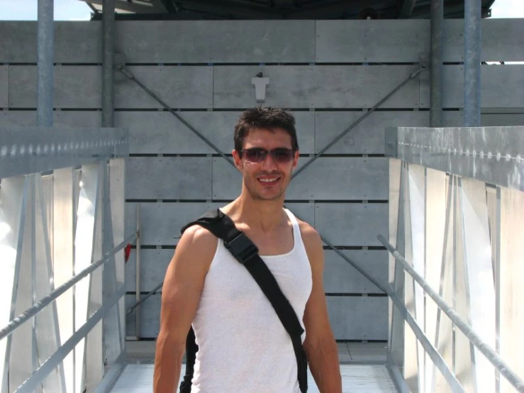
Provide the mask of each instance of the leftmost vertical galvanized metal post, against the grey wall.
{"label": "leftmost vertical galvanized metal post, against the grey wall", "polygon": [[52,126],[52,59],[53,59],[53,0],[38,0],[38,104],[37,123]]}

